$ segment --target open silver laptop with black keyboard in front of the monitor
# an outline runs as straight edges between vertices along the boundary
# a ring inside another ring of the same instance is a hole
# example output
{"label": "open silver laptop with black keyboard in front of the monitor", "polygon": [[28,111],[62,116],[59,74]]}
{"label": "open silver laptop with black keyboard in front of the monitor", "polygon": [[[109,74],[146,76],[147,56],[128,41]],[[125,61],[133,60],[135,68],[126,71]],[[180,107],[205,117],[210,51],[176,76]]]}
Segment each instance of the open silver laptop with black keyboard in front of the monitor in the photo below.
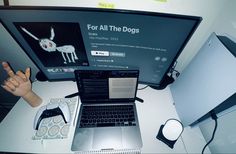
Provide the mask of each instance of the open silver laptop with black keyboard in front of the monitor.
{"label": "open silver laptop with black keyboard in front of the monitor", "polygon": [[138,70],[76,70],[81,107],[72,151],[140,149]]}

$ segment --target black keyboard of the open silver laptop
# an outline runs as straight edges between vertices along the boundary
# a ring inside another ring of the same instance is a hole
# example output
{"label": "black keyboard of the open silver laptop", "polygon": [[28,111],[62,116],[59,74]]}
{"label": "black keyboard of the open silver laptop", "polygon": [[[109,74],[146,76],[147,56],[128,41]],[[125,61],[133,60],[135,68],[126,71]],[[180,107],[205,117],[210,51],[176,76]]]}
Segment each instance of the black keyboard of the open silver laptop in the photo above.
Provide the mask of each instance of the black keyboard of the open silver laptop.
{"label": "black keyboard of the open silver laptop", "polygon": [[133,105],[83,106],[80,128],[136,126]]}

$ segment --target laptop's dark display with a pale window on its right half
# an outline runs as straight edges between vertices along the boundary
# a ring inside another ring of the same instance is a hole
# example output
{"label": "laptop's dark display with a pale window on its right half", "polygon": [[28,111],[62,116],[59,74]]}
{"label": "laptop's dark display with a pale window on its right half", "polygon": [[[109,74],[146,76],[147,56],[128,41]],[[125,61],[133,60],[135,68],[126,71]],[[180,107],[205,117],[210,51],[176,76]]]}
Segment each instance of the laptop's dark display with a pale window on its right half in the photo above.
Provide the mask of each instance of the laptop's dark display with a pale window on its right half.
{"label": "laptop's dark display with a pale window on its right half", "polygon": [[134,101],[138,70],[76,70],[82,103]]}

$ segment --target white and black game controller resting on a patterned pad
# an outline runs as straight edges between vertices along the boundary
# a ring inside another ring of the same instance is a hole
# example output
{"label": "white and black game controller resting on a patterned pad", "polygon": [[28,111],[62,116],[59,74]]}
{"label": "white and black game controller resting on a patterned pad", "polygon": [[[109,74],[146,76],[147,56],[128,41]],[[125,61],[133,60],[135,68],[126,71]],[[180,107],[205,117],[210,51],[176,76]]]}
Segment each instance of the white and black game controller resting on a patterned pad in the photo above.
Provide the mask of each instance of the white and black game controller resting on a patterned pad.
{"label": "white and black game controller resting on a patterned pad", "polygon": [[42,106],[35,116],[34,129],[38,130],[39,124],[44,118],[57,115],[61,115],[65,123],[70,122],[70,111],[66,102],[49,103],[48,105]]}

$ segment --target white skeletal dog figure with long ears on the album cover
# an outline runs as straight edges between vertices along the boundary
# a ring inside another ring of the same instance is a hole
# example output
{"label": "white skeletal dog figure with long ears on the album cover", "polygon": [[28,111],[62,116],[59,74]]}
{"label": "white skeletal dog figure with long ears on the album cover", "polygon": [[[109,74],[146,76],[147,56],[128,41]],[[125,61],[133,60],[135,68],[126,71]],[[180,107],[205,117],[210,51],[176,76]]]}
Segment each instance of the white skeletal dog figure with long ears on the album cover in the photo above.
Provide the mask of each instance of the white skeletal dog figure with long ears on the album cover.
{"label": "white skeletal dog figure with long ears on the album cover", "polygon": [[21,29],[27,33],[30,37],[33,39],[39,41],[40,47],[47,52],[60,52],[63,59],[64,64],[69,63],[75,63],[75,60],[78,60],[78,57],[75,53],[75,47],[73,45],[63,45],[63,46],[57,46],[55,42],[53,42],[53,39],[55,37],[54,29],[51,27],[51,36],[50,38],[42,38],[39,39],[35,35],[33,35],[31,32],[29,32],[26,28],[21,27]]}

